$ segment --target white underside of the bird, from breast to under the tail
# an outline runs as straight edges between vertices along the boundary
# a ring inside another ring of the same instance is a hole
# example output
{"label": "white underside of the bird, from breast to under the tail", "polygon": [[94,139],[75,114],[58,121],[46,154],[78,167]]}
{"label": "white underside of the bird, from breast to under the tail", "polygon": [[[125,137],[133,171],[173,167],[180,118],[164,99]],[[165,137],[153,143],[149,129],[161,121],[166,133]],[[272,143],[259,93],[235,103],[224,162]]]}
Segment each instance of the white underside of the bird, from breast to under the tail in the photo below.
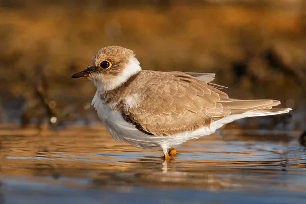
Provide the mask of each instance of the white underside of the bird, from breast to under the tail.
{"label": "white underside of the bird, from breast to under the tail", "polygon": [[233,122],[234,120],[245,117],[276,115],[288,112],[244,113],[239,115],[231,115],[218,121],[212,122],[210,128],[200,127],[195,131],[185,132],[172,136],[156,136],[147,135],[136,129],[131,123],[126,122],[122,117],[121,111],[119,110],[118,112],[113,112],[111,107],[100,99],[98,92],[96,92],[92,100],[92,106],[97,110],[100,120],[103,121],[108,132],[116,141],[127,142],[142,149],[161,147],[164,152],[167,151],[168,148],[180,145],[187,140],[197,139],[202,136],[210,135],[219,129],[222,125]]}

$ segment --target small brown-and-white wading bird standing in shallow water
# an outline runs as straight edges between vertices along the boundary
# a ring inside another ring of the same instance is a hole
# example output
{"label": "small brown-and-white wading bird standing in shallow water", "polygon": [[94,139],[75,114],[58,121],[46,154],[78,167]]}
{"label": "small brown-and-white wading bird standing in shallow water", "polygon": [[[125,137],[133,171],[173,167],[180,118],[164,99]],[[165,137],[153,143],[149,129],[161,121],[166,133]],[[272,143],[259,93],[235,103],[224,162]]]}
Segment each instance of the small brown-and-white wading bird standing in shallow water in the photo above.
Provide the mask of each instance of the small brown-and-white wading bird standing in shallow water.
{"label": "small brown-and-white wading bird standing in shallow water", "polygon": [[149,71],[139,64],[130,49],[104,47],[72,78],[86,77],[97,87],[92,106],[116,141],[160,147],[166,160],[176,155],[176,145],[234,120],[291,110],[272,108],[278,100],[228,98],[220,90],[226,87],[210,83],[212,73]]}

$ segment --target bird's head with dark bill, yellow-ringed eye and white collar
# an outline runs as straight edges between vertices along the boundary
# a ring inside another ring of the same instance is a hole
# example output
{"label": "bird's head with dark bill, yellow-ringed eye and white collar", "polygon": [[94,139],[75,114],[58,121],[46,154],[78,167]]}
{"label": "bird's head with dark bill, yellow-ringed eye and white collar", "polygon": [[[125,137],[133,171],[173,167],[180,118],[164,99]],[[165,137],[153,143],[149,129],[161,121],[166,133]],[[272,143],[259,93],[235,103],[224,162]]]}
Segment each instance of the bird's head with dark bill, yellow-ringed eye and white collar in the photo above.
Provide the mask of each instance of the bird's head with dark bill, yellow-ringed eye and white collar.
{"label": "bird's head with dark bill, yellow-ringed eye and white collar", "polygon": [[97,89],[107,91],[122,85],[139,71],[141,67],[131,49],[109,46],[98,50],[88,67],[71,78],[86,77]]}

